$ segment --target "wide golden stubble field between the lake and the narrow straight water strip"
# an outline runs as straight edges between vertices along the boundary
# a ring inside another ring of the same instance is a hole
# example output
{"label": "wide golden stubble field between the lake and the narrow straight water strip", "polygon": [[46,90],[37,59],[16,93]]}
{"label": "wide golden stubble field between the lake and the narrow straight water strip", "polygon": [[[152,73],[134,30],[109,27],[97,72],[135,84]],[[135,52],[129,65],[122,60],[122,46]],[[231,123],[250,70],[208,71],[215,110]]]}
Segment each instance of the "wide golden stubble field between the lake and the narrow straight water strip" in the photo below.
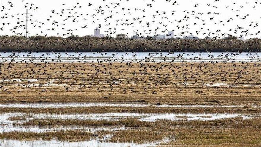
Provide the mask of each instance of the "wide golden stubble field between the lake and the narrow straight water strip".
{"label": "wide golden stubble field between the lake and the narrow straight water strip", "polygon": [[[0,82],[3,86],[0,100],[9,103],[260,105],[261,97],[261,68],[257,63],[5,63],[0,70],[1,77],[6,79],[38,79],[30,83],[26,80]],[[58,85],[45,85],[51,80]],[[232,87],[205,85],[216,83]]]}

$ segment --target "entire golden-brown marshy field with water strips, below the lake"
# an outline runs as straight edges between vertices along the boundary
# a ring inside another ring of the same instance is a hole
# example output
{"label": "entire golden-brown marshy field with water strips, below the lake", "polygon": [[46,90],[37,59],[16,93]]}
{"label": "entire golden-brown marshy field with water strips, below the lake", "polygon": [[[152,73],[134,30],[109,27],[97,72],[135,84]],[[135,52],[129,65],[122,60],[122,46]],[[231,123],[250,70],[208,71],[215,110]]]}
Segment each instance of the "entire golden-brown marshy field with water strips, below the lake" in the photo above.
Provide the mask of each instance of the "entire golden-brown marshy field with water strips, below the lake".
{"label": "entire golden-brown marshy field with water strips, below the lake", "polygon": [[261,146],[260,62],[0,63],[0,146]]}

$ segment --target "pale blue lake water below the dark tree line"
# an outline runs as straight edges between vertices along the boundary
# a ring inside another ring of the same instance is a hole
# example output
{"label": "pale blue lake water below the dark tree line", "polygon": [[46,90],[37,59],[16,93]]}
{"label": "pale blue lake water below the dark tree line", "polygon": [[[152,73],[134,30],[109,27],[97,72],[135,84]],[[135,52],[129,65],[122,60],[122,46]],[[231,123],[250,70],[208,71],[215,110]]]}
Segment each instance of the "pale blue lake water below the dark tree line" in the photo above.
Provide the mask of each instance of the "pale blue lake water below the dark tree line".
{"label": "pale blue lake water below the dark tree line", "polygon": [[0,53],[0,62],[261,62],[261,53]]}

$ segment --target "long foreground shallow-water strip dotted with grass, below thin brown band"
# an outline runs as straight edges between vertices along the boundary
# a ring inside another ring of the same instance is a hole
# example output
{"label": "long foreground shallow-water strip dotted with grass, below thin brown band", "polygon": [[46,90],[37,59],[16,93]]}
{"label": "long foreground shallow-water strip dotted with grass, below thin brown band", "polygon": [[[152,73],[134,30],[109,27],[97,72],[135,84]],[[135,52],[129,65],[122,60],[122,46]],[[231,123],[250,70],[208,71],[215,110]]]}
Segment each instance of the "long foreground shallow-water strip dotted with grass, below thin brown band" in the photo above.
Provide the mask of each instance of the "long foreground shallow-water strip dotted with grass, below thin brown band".
{"label": "long foreground shallow-water strip dotted with grass, below thin brown band", "polygon": [[180,120],[180,116],[186,116],[190,120],[215,120],[222,118],[243,117],[244,119],[253,118],[261,115],[245,115],[245,114],[141,114],[141,113],[101,113],[101,114],[25,114],[25,113],[2,113],[0,114],[0,124],[12,124],[14,121],[8,120],[9,117],[25,117],[27,121],[30,119],[79,119],[79,120],[117,120],[122,118],[136,118],[141,121],[156,121],[158,119]]}

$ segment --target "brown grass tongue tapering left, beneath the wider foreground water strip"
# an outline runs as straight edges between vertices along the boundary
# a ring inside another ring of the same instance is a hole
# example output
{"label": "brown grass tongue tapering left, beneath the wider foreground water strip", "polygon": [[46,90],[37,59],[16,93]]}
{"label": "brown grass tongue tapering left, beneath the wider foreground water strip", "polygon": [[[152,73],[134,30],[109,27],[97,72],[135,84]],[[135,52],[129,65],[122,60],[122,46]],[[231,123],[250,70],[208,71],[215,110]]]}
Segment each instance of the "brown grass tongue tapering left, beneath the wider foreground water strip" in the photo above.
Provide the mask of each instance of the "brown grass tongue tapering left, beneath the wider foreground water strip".
{"label": "brown grass tongue tapering left, beneath the wider foreground water strip", "polygon": [[15,122],[14,125],[23,126],[119,126],[125,127],[170,127],[184,126],[192,128],[257,128],[261,129],[261,118],[243,119],[242,117],[224,118],[209,121],[200,120],[157,120],[155,122],[139,121],[137,119],[120,120],[78,120],[78,119],[32,119],[23,123]]}

